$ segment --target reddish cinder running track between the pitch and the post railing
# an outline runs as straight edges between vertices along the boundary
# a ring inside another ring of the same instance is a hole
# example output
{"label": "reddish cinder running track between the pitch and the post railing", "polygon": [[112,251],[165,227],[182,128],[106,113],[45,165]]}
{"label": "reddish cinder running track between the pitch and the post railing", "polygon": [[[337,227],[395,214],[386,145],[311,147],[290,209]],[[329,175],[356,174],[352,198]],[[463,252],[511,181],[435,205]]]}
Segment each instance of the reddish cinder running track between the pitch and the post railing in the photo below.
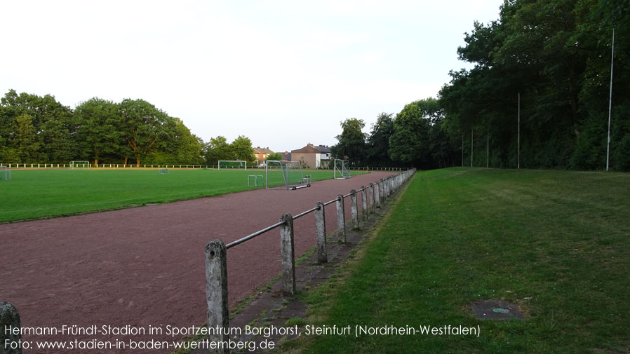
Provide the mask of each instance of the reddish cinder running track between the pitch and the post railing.
{"label": "reddish cinder running track between the pitch and the post railing", "polygon": [[[18,308],[22,327],[128,325],[164,329],[166,325],[201,325],[206,321],[204,247],[208,241],[220,238],[229,243],[279,222],[284,213],[297,215],[314,207],[317,201],[333,200],[338,193],[347,194],[391,174],[372,172],[351,179],[329,179],[297,191],[259,189],[0,224],[0,301],[11,302]],[[361,198],[357,199],[361,208]],[[345,208],[349,219],[349,198]],[[300,255],[316,244],[314,214],[296,219],[294,227],[295,254]],[[331,233],[335,229],[333,203],[326,207],[326,230]],[[227,251],[230,306],[280,272],[279,252],[279,229]],[[79,336],[80,339],[95,337],[115,340],[142,336]],[[27,335],[22,339],[74,338]],[[166,334],[146,335],[145,339],[173,340]],[[68,351],[25,350],[25,353]]]}

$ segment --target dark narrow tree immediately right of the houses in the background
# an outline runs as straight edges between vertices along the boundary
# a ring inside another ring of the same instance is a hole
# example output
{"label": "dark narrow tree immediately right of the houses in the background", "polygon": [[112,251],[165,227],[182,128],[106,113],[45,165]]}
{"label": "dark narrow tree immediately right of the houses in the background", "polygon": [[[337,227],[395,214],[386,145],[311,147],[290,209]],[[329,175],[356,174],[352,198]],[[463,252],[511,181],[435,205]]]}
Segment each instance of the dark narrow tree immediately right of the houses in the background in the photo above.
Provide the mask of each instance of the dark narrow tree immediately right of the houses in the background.
{"label": "dark narrow tree immediately right of the houses in the background", "polygon": [[365,126],[362,119],[348,118],[342,121],[342,133],[335,137],[338,143],[331,147],[331,154],[337,158],[347,157],[354,165],[362,163],[366,157],[366,134],[361,130]]}

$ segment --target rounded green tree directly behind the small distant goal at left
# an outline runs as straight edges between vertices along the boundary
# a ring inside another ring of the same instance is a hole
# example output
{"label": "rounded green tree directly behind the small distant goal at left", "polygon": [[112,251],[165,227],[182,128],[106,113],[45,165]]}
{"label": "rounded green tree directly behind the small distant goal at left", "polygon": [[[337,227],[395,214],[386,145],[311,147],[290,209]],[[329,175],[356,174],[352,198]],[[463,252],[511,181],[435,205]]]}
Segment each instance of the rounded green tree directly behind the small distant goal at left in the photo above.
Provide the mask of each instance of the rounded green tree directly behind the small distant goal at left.
{"label": "rounded green tree directly behind the small distant goal at left", "polygon": [[79,128],[76,139],[79,140],[83,158],[93,158],[94,165],[103,154],[119,154],[119,142],[123,137],[119,105],[98,97],[81,102],[74,110],[74,118]]}

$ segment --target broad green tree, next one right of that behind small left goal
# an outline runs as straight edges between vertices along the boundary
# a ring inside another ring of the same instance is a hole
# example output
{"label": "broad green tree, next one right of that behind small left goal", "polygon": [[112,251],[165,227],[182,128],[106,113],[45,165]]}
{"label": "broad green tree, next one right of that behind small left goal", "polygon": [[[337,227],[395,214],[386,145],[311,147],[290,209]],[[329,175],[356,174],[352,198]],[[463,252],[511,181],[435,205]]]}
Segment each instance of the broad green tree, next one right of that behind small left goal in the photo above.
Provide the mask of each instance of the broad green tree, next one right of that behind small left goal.
{"label": "broad green tree, next one right of that behind small left goal", "polygon": [[[120,104],[126,146],[137,165],[147,154],[164,149],[172,141],[175,120],[145,100],[123,100]],[[125,156],[125,164],[128,156]]]}

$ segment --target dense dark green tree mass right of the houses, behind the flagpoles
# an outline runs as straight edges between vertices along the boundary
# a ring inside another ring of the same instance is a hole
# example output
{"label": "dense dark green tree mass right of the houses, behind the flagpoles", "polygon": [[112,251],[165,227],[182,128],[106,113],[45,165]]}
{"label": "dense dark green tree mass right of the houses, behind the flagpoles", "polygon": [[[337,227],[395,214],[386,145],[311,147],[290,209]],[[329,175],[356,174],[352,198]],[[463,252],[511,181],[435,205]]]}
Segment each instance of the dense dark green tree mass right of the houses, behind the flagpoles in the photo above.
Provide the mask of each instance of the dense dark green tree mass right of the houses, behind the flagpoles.
{"label": "dense dark green tree mass right of the houses, behind the flagpoles", "polygon": [[333,153],[418,168],[603,169],[614,28],[610,165],[630,170],[628,8],[630,0],[507,0],[498,20],[465,34],[457,53],[474,67],[451,71],[438,100],[381,114],[363,140],[363,121],[342,122]]}

